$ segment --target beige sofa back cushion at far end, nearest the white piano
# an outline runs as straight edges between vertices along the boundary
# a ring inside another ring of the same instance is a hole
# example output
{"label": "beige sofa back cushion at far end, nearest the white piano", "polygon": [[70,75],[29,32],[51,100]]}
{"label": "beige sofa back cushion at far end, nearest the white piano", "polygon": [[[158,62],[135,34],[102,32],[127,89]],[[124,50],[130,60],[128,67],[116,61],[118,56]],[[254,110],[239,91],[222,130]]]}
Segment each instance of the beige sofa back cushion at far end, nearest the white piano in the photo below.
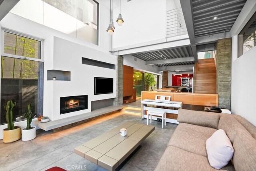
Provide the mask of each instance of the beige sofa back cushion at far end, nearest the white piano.
{"label": "beige sofa back cushion at far end, nearest the white piano", "polygon": [[219,113],[178,109],[178,122],[218,129]]}

